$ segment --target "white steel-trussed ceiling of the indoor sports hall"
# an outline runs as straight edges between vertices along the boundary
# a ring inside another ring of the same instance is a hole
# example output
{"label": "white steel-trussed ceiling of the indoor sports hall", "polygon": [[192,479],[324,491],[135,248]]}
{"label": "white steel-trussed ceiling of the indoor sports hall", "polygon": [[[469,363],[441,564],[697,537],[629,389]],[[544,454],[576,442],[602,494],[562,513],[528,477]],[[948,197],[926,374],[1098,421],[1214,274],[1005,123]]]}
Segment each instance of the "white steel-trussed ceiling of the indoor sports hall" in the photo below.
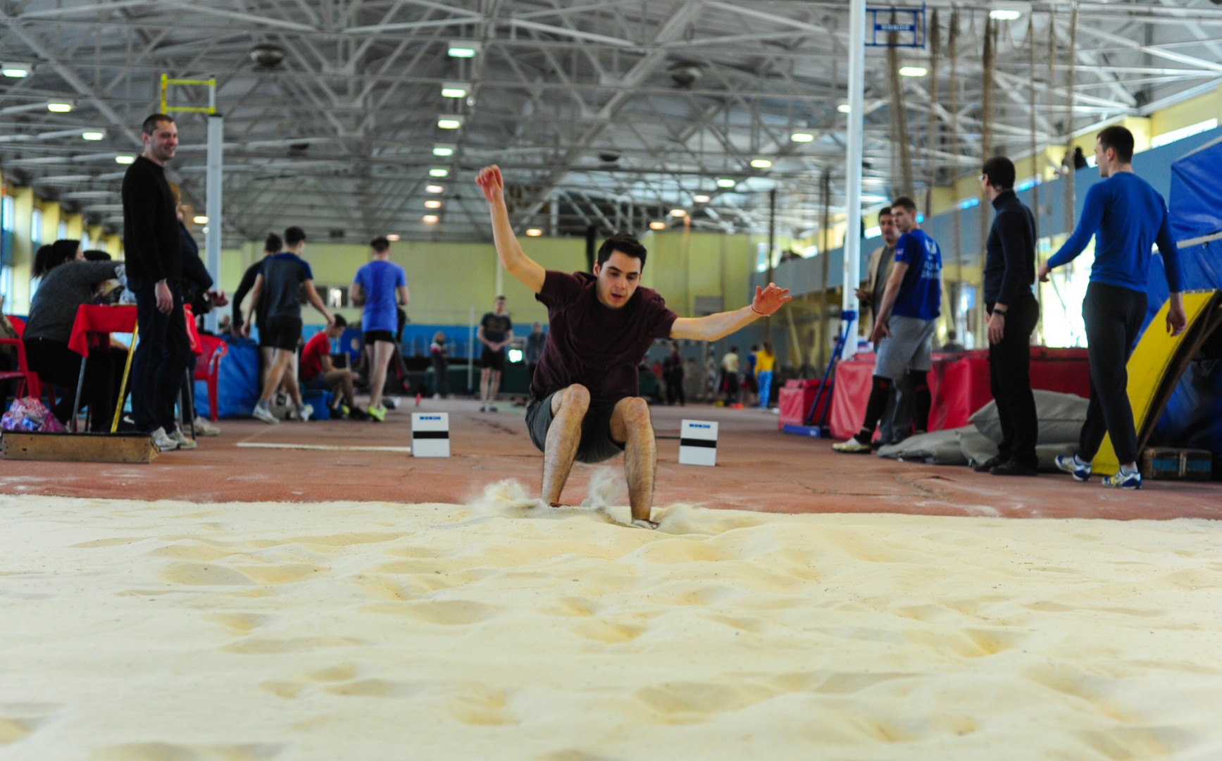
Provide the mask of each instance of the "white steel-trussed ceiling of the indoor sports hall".
{"label": "white steel-trussed ceiling of the indoor sports hall", "polygon": [[[936,60],[932,44],[866,51],[864,202],[898,190],[906,158],[919,192],[973,173],[985,141],[1019,157],[1216,87],[1217,2],[927,2]],[[990,22],[998,10],[1020,15]],[[0,163],[9,182],[120,229],[115,159],[138,152],[161,75],[215,77],[226,245],[290,224],[315,241],[486,240],[472,177],[491,163],[519,230],[764,232],[776,190],[778,231],[809,234],[825,173],[843,206],[848,16],[848,0],[0,0],[0,61],[32,67],[0,77]],[[205,87],[170,89],[171,105],[207,103]],[[207,117],[178,119],[171,176],[202,209]]]}

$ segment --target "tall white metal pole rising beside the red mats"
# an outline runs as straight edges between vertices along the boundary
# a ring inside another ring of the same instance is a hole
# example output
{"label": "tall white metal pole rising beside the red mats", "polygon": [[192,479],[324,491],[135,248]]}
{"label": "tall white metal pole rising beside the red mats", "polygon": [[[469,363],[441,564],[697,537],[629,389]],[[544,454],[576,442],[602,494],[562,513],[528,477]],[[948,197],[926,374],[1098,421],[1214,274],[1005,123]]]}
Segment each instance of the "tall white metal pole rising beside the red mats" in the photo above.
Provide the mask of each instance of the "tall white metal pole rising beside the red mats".
{"label": "tall white metal pole rising beside the red mats", "polygon": [[[844,273],[842,314],[857,313],[857,283],[862,272],[862,141],[865,110],[865,0],[852,0],[849,12],[848,53],[848,150],[844,155],[844,210],[848,229],[844,231]],[[852,338],[857,334],[854,321],[842,325]],[[844,341],[843,356],[857,354],[857,341]]]}

